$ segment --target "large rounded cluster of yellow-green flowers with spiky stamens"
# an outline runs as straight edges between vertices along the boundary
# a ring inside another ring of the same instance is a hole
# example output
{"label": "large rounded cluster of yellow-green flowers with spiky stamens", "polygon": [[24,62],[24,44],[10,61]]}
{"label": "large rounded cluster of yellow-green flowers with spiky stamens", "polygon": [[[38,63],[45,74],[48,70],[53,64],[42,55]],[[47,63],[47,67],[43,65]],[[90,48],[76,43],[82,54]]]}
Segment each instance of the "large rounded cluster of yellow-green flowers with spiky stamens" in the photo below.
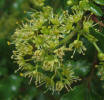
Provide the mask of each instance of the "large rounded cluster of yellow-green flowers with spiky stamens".
{"label": "large rounded cluster of yellow-green flowers with spiky stamens", "polygon": [[[42,11],[31,14],[31,18],[12,36],[16,48],[12,58],[23,76],[35,79],[37,87],[45,84],[47,90],[60,92],[79,80],[72,67],[65,64],[65,52],[84,54],[86,47],[80,37],[90,42],[96,42],[96,38],[89,32],[92,21],[83,21],[84,10],[80,10],[80,6],[72,9],[71,15],[68,11],[55,14],[51,7],[42,7]],[[70,43],[76,36],[77,39]]]}

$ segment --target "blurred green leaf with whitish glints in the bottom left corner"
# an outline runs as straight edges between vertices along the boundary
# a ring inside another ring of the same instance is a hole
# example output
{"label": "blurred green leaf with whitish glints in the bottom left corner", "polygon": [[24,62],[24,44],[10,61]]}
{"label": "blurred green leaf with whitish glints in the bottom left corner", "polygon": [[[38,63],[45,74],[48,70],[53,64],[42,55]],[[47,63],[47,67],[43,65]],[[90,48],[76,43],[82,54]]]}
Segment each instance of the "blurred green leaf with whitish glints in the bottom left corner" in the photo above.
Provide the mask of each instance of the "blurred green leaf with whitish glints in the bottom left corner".
{"label": "blurred green leaf with whitish glints in the bottom left corner", "polygon": [[12,100],[18,93],[21,85],[21,78],[16,75],[10,75],[8,78],[0,82],[0,98],[2,100]]}

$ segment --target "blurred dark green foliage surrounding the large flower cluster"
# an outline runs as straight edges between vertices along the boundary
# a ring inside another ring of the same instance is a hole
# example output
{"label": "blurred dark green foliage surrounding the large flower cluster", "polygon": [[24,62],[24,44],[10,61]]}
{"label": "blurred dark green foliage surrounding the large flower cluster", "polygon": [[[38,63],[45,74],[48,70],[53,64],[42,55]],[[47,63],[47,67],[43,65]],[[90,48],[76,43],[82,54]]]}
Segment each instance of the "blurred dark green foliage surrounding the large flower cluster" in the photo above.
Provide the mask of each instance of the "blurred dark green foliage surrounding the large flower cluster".
{"label": "blurred dark green foliage surrounding the large flower cluster", "polygon": [[[71,2],[70,2],[71,1]],[[77,4],[80,0],[46,0],[45,2],[52,7],[57,13],[61,9],[70,10],[68,5]],[[99,1],[99,2],[98,2]],[[98,20],[103,22],[103,0],[93,0],[91,12],[97,16]],[[51,95],[51,93],[43,94],[44,90],[36,89],[34,83],[28,85],[29,80],[22,77],[22,73],[14,73],[17,65],[11,60],[13,46],[8,46],[7,41],[14,33],[18,24],[21,24],[25,17],[34,11],[41,9],[42,3],[36,0],[0,0],[0,99],[1,100],[104,100],[104,81],[97,76],[97,69],[92,70],[96,62],[96,50],[83,39],[87,47],[86,55],[75,55],[75,62],[71,62],[74,67],[75,74],[82,78],[81,84],[76,86],[69,93],[62,91],[60,95]],[[83,4],[84,5],[84,4]],[[86,7],[86,4],[84,5]],[[87,9],[87,7],[86,7]],[[30,11],[30,12],[29,12]],[[95,18],[95,17],[94,17]],[[95,20],[96,21],[96,20]],[[96,26],[100,28],[99,32],[91,30],[94,35],[99,38],[99,47],[104,52],[104,25]],[[66,58],[67,59],[67,58]],[[70,63],[69,63],[70,65]],[[73,87],[73,86],[72,86]],[[63,95],[64,94],[64,95]]]}

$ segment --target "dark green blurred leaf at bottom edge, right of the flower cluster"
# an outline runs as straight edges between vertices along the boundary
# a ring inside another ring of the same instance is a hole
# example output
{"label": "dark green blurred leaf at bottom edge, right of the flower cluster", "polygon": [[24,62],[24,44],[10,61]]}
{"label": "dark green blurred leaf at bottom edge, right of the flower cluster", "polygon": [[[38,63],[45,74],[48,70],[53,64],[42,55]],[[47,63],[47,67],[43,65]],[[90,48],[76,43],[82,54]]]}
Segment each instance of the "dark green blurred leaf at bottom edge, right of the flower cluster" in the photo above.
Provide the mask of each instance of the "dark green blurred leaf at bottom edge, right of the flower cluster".
{"label": "dark green blurred leaf at bottom edge, right of the flower cluster", "polygon": [[95,90],[95,87],[91,85],[91,87],[88,88],[87,84],[82,84],[75,86],[73,90],[63,95],[61,100],[102,100],[102,98]]}

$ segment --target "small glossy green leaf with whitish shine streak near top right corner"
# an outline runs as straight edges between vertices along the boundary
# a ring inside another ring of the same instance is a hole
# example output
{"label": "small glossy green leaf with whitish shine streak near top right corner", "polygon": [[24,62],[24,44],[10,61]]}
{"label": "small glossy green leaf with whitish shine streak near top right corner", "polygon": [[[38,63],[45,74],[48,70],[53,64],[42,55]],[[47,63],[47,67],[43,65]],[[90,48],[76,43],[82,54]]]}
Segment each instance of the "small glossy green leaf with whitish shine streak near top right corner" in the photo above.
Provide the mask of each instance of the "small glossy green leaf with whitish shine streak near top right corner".
{"label": "small glossy green leaf with whitish shine streak near top right corner", "polygon": [[100,9],[100,7],[98,7],[97,5],[95,5],[93,3],[90,4],[90,11],[92,13],[94,13],[95,15],[97,15],[97,16],[102,16],[103,15],[103,12]]}

